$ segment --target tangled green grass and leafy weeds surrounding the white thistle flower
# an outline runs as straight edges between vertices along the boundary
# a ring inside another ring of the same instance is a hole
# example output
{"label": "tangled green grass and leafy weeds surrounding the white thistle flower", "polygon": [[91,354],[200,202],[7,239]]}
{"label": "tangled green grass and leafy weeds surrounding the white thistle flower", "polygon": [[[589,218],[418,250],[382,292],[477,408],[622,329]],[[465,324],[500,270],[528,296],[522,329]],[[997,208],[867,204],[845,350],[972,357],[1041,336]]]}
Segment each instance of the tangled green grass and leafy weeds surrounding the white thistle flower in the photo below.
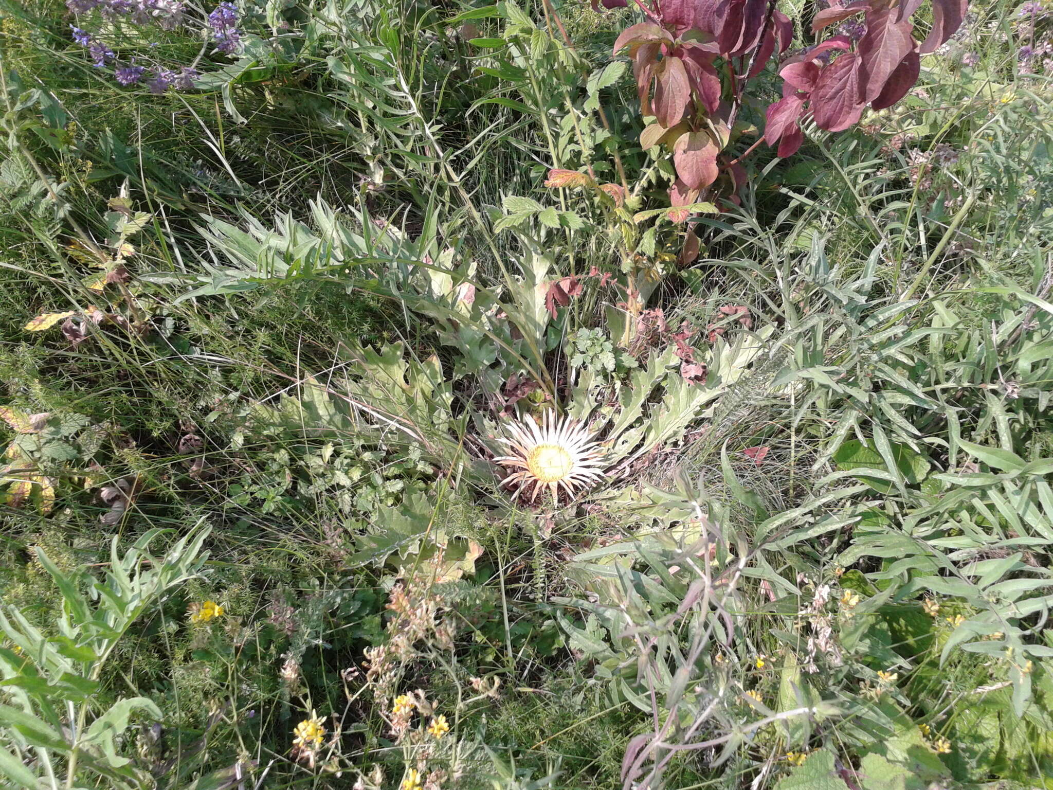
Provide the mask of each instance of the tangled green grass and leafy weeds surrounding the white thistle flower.
{"label": "tangled green grass and leafy weeds surrounding the white thistle flower", "polygon": [[[64,4],[0,4],[5,781],[614,788],[645,749],[652,788],[1051,786],[1053,113],[1014,5],[975,4],[858,129],[761,146],[679,263],[683,225],[631,220],[668,200],[631,78],[603,119],[585,102],[633,12],[558,7],[571,51],[541,3],[474,33],[449,21],[466,5],[249,5],[254,71],[155,96],[92,67]],[[171,66],[202,46],[120,35]],[[552,166],[620,166],[638,201],[547,189]],[[523,198],[576,219],[501,219]],[[121,243],[126,279],[93,287],[114,262],[91,248]],[[668,331],[624,320],[630,284]],[[65,334],[25,330],[59,312]],[[572,361],[579,330],[614,370]],[[613,474],[530,508],[490,459],[510,414],[553,406]],[[161,529],[128,573],[190,567],[161,556],[203,528],[203,565],[117,593],[141,612],[84,657],[106,637],[60,623],[108,611],[112,542]],[[206,600],[223,614],[193,621]],[[98,688],[62,698],[48,660]],[[40,739],[135,697],[73,756]]]}

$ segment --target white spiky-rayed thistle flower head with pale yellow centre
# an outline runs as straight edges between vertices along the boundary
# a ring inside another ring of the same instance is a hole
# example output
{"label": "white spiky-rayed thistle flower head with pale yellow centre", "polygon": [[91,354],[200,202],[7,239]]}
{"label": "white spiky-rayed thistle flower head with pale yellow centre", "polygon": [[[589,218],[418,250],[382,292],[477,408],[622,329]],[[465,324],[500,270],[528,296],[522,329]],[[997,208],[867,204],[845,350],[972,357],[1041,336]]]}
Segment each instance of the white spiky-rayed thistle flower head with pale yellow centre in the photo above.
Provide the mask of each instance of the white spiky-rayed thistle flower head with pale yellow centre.
{"label": "white spiky-rayed thistle flower head with pale yellow centre", "polygon": [[504,483],[515,487],[513,498],[530,493],[534,502],[544,488],[553,499],[560,488],[573,498],[578,490],[607,476],[599,442],[575,419],[560,419],[547,411],[540,426],[528,415],[509,422],[506,430],[509,436],[498,441],[508,445],[512,454],[494,460],[511,470]]}

